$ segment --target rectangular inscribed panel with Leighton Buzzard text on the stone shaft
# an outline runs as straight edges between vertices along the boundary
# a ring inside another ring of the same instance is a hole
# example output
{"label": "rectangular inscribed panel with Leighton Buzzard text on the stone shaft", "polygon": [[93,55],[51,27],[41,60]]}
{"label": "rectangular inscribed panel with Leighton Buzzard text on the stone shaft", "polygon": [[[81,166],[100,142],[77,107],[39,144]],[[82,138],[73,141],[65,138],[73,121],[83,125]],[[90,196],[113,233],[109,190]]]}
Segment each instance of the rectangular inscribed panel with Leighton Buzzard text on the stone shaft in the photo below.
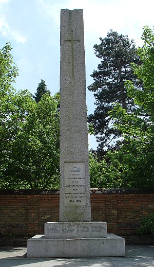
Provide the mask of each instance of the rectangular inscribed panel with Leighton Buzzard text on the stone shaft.
{"label": "rectangular inscribed panel with Leighton Buzzard text on the stone shaft", "polygon": [[64,205],[86,205],[85,163],[64,163]]}

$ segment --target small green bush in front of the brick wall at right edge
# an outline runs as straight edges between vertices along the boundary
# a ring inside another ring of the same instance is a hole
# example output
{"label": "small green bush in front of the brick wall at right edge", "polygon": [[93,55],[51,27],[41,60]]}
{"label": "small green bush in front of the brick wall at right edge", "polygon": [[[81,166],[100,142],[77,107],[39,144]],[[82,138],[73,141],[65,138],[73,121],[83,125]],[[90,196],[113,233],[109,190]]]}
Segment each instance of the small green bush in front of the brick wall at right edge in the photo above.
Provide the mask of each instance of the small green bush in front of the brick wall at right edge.
{"label": "small green bush in front of the brick wall at right edge", "polygon": [[154,213],[141,216],[138,232],[141,236],[143,235],[154,236]]}

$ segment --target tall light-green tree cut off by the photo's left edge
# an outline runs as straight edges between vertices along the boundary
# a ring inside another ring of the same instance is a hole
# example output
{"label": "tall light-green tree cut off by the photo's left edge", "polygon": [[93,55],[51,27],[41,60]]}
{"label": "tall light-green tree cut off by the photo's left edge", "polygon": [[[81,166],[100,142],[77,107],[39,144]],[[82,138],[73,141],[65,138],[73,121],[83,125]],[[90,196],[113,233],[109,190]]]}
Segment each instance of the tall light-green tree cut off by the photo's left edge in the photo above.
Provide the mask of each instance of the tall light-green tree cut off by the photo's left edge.
{"label": "tall light-green tree cut off by the photo's left edge", "polygon": [[[6,43],[0,50],[0,173],[5,170],[10,153],[10,142],[16,133],[11,116],[15,109],[12,105],[13,83],[18,76],[18,69],[13,62],[11,50],[10,43]],[[17,118],[15,120],[17,122]]]}

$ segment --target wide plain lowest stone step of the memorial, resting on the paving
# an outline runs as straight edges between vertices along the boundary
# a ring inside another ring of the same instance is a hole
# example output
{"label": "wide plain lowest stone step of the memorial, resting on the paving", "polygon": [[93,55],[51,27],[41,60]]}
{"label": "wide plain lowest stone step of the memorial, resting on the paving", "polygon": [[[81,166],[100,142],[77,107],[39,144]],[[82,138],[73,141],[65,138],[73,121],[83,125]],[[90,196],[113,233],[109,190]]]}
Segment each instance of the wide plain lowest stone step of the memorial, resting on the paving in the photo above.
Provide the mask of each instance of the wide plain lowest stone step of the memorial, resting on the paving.
{"label": "wide plain lowest stone step of the memorial, resting on the paving", "polygon": [[125,239],[113,234],[107,238],[47,239],[36,235],[27,242],[28,258],[125,256]]}

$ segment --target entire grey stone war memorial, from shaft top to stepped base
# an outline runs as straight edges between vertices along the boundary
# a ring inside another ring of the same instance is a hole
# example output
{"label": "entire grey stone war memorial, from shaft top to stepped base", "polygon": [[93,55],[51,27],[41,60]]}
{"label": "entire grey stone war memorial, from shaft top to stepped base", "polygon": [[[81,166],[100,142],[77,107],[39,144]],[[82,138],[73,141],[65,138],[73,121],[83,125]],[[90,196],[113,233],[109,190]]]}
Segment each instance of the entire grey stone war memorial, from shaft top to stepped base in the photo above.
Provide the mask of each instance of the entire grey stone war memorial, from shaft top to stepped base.
{"label": "entire grey stone war memorial, from shaft top to stepped base", "polygon": [[83,10],[61,10],[60,221],[28,240],[28,258],[124,256],[125,240],[91,222]]}

